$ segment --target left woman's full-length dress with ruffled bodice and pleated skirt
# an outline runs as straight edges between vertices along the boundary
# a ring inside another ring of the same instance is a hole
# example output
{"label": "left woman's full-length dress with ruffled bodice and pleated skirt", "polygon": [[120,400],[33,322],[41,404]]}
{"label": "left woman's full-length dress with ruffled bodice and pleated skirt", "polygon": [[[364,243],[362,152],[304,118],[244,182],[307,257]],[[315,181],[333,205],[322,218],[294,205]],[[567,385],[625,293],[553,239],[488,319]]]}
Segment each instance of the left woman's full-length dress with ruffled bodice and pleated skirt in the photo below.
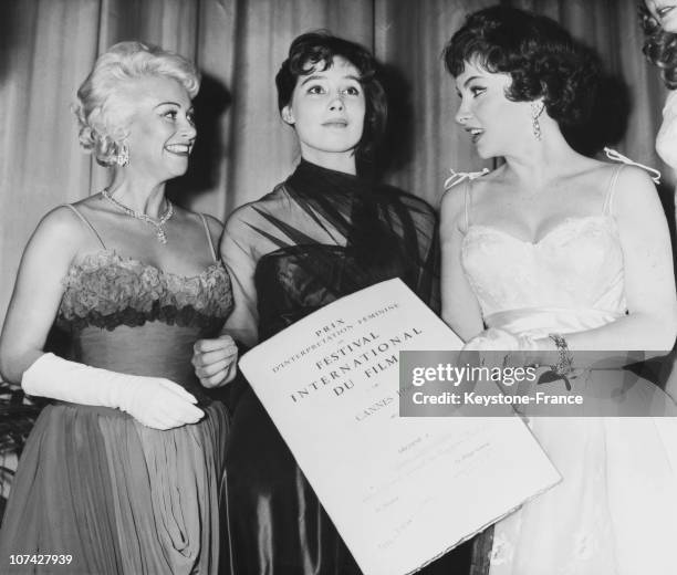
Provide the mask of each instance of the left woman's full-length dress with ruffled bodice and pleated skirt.
{"label": "left woman's full-length dress with ruffled bodice and pleated skirt", "polygon": [[[12,483],[0,572],[217,573],[229,418],[201,391],[190,358],[194,343],[218,335],[232,307],[228,274],[216,255],[202,273],[183,278],[102,248],[64,279],[56,324],[70,334],[69,358],[171,379],[198,398],[205,417],[162,431],[117,409],[46,406]],[[10,568],[9,555],[20,553],[73,561]]]}

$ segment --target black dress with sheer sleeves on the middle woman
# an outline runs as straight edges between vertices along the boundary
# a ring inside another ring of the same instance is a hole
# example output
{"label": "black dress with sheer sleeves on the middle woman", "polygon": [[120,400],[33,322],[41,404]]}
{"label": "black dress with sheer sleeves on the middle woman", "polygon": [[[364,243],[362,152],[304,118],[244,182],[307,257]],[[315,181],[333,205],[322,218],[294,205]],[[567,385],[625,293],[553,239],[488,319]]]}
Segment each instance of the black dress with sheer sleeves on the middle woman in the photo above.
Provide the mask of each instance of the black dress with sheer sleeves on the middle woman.
{"label": "black dress with sheer sleeves on the middle woman", "polygon": [[[246,346],[395,276],[437,310],[436,216],[397,189],[302,161],[271,194],[238,209],[226,234],[236,302],[226,330]],[[358,574],[249,385],[232,386],[225,572]],[[457,558],[449,554],[440,571],[425,573],[466,573],[454,571]]]}

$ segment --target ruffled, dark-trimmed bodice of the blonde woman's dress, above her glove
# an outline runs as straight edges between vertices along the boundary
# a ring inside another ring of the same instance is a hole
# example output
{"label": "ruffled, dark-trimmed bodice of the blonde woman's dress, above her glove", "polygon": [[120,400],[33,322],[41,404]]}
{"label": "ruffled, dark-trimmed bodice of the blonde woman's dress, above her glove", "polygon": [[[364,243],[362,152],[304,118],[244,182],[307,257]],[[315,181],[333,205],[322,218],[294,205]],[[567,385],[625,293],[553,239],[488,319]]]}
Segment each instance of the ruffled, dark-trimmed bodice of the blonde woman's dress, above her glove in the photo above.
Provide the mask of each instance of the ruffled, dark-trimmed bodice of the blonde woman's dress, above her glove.
{"label": "ruffled, dark-trimmed bodice of the blonde woman's dress, above her glove", "polygon": [[73,264],[63,282],[56,325],[70,334],[70,358],[167,377],[208,401],[190,357],[195,342],[216,337],[232,309],[220,262],[183,278],[104,250]]}

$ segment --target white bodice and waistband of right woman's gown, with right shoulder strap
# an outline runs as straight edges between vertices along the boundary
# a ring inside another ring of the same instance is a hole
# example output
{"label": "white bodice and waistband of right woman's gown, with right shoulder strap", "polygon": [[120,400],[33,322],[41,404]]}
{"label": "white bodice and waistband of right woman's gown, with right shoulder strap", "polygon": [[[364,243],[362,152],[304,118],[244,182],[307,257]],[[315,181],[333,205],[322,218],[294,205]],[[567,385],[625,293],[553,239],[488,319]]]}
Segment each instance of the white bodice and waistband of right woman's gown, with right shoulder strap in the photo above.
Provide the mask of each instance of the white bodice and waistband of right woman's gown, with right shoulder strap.
{"label": "white bodice and waistband of right woman's gown, with right shoulder strap", "polygon": [[623,251],[611,213],[618,170],[602,213],[562,220],[537,242],[468,223],[461,264],[488,326],[571,333],[626,312]]}

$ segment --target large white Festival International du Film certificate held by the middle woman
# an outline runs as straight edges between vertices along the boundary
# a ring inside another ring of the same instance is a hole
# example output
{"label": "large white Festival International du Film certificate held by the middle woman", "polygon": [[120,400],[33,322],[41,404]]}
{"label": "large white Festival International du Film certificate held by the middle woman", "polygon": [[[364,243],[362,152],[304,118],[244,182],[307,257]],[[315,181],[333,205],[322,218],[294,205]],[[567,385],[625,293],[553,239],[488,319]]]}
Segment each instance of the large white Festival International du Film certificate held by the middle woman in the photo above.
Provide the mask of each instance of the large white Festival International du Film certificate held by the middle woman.
{"label": "large white Festival International du Film certificate held by the middle woman", "polygon": [[240,359],[365,575],[414,573],[561,479],[518,417],[399,417],[399,352],[461,346],[389,280]]}

